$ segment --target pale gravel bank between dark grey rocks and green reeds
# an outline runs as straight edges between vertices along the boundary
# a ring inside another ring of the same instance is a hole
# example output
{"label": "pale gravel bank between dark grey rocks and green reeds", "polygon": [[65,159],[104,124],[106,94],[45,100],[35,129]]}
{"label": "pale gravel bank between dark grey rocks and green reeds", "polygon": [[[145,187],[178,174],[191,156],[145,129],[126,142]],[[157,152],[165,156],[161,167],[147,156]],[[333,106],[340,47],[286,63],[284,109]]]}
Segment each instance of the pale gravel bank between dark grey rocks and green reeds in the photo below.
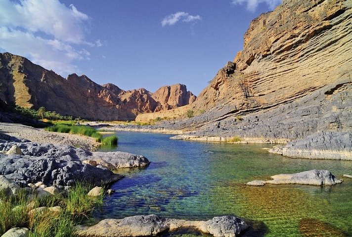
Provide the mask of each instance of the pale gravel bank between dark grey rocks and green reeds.
{"label": "pale gravel bank between dark grey rocks and green reeds", "polygon": [[0,133],[17,138],[25,138],[38,143],[71,145],[89,151],[94,151],[100,144],[92,137],[47,132],[43,129],[36,129],[22,124],[0,123]]}

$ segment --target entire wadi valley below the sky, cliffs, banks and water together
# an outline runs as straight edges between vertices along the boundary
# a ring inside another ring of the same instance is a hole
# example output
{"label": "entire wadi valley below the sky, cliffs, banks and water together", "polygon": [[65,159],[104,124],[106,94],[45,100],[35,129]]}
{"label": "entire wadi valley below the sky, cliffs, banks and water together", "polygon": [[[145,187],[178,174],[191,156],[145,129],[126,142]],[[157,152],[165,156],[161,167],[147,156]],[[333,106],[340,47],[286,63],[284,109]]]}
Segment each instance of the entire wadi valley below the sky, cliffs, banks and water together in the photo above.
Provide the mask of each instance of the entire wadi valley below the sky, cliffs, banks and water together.
{"label": "entire wadi valley below the sky, cliffs, banks and water together", "polygon": [[0,236],[352,236],[351,22],[284,0],[198,96],[0,53]]}

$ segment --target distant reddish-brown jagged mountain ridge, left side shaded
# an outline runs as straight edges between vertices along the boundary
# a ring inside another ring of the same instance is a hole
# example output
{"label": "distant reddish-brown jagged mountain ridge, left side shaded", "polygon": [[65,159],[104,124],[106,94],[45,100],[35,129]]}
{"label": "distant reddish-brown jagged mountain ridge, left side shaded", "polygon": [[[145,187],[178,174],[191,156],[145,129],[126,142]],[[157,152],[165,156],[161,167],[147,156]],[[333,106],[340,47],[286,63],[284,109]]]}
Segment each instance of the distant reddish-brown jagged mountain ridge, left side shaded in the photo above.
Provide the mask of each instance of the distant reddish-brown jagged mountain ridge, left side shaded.
{"label": "distant reddish-brown jagged mountain ridge, left side shaded", "polygon": [[138,113],[189,104],[195,96],[180,84],[162,87],[154,96],[144,88],[124,91],[113,84],[101,86],[85,75],[71,74],[65,79],[26,58],[2,53],[0,100],[92,120],[132,120]]}

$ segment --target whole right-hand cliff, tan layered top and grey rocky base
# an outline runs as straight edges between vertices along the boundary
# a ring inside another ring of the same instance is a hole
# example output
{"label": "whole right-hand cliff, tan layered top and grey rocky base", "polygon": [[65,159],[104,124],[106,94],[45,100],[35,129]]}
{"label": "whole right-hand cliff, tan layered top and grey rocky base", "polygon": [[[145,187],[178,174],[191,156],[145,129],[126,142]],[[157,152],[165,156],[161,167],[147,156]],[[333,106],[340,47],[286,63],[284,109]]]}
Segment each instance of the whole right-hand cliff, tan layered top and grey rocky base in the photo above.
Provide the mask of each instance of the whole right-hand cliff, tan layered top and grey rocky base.
{"label": "whole right-hand cliff, tan layered top and grey rocky base", "polygon": [[192,131],[178,138],[295,140],[274,152],[352,159],[351,22],[351,0],[284,0],[252,21],[243,50],[190,105],[206,112],[163,126]]}

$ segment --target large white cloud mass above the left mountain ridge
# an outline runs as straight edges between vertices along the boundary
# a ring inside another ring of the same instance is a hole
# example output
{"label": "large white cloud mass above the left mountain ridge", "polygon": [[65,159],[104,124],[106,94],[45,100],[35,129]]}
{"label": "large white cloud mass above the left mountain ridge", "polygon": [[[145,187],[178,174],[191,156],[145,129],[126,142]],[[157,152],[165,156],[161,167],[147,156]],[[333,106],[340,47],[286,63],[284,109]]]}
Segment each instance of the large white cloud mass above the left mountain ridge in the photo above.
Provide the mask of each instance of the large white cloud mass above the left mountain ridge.
{"label": "large white cloud mass above the left mountain ridge", "polygon": [[84,46],[89,17],[59,0],[0,0],[0,50],[28,57],[59,74],[78,68],[75,60],[88,60]]}

